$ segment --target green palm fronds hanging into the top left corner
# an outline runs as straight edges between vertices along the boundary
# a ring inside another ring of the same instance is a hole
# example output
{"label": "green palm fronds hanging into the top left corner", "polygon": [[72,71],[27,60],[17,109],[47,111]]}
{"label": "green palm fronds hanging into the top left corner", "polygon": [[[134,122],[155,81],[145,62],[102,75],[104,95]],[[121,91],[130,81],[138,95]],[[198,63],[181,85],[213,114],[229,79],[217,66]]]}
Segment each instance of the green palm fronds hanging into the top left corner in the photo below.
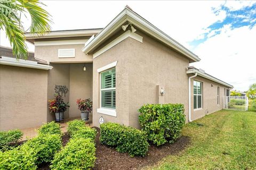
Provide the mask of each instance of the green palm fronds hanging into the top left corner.
{"label": "green palm fronds hanging into the top left corner", "polygon": [[0,0],[0,29],[5,30],[13,55],[17,58],[27,59],[28,56],[21,15],[30,15],[29,31],[35,36],[42,36],[51,30],[50,14],[41,6],[44,4],[39,0]]}

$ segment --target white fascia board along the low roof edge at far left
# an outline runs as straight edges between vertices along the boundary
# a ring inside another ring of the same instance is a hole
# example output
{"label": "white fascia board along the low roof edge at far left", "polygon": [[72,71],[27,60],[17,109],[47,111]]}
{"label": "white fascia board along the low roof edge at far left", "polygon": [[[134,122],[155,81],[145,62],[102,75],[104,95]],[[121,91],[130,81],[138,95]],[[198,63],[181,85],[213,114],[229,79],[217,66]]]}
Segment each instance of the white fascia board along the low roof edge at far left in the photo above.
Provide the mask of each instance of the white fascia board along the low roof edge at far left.
{"label": "white fascia board along the low roof edge at far left", "polygon": [[28,61],[28,60],[22,60],[22,59],[17,60],[16,58],[4,57],[4,56],[0,58],[0,64],[19,66],[19,67],[28,67],[32,69],[42,69],[42,70],[52,69],[52,66],[50,65],[38,64],[35,61]]}

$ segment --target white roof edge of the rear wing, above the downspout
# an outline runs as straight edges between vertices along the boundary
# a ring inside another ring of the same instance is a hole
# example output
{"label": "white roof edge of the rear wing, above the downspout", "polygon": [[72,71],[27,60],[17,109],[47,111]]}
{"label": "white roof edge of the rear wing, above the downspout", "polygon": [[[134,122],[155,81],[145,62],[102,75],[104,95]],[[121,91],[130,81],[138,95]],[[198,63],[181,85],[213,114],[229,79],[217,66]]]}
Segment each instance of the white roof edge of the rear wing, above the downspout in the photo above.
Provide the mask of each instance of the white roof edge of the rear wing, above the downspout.
{"label": "white roof edge of the rear wing, above the downspout", "polygon": [[204,70],[202,70],[202,69],[196,69],[196,67],[194,67],[194,66],[188,67],[187,74],[190,74],[190,73],[197,73],[197,75],[199,75],[203,78],[206,78],[206,79],[212,80],[214,82],[220,83],[220,84],[222,84],[224,86],[227,86],[229,88],[234,88],[231,84],[228,84],[228,83],[226,83],[226,82],[224,82],[220,79],[217,79],[217,78],[213,77],[210,74],[205,73]]}

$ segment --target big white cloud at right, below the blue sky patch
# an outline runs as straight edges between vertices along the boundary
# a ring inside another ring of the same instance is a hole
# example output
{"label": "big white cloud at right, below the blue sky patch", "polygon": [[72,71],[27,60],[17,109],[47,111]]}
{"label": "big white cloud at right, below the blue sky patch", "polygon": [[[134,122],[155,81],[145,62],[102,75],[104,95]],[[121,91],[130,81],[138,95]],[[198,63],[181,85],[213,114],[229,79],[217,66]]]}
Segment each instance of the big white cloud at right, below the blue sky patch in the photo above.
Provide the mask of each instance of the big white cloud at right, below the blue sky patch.
{"label": "big white cloud at right, below the blue sky patch", "polygon": [[193,63],[207,73],[229,82],[237,90],[247,90],[256,82],[256,25],[230,29],[225,25],[219,35],[195,48],[202,61]]}

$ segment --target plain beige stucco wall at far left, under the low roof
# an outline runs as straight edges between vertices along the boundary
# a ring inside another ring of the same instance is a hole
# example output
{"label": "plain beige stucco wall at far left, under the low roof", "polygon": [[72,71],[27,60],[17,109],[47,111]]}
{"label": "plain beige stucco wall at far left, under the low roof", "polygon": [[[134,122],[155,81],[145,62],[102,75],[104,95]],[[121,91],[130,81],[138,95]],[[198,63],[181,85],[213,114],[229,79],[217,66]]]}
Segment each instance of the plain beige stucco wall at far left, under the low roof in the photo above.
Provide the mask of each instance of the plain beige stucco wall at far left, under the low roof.
{"label": "plain beige stucco wall at far left, under the low roof", "polygon": [[47,121],[47,71],[0,65],[0,130]]}

